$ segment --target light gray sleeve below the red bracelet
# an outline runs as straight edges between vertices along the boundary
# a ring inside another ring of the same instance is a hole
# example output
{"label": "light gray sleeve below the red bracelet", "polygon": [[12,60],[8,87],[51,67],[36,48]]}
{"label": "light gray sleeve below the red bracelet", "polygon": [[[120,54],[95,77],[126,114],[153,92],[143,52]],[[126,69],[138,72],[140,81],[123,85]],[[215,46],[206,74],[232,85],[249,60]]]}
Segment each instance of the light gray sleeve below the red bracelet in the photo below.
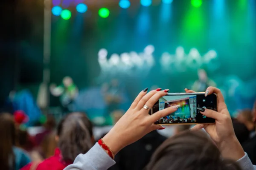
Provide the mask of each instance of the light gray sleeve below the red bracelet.
{"label": "light gray sleeve below the red bracelet", "polygon": [[116,162],[96,143],[87,153],[79,154],[64,170],[107,170]]}

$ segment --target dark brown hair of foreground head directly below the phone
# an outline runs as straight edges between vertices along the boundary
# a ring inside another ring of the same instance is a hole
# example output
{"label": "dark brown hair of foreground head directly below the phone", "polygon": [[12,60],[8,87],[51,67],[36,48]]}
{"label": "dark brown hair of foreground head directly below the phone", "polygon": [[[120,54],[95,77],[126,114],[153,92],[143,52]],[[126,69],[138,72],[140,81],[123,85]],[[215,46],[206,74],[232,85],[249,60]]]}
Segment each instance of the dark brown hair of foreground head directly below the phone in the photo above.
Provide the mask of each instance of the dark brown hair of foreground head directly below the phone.
{"label": "dark brown hair of foreground head directly below the phone", "polygon": [[202,131],[184,131],[157,148],[146,170],[241,170],[221,153]]}

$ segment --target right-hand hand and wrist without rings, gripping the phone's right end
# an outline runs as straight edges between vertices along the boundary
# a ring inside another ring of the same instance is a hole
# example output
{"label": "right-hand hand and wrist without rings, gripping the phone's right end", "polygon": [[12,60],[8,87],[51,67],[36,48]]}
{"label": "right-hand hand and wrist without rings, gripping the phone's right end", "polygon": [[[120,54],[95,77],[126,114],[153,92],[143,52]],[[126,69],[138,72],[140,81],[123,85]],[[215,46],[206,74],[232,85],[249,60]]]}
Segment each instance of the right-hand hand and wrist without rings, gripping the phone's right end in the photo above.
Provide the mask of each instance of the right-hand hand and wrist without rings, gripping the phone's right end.
{"label": "right-hand hand and wrist without rings, gripping the phone's right end", "polygon": [[[185,89],[186,93],[193,93],[194,91]],[[218,88],[209,87],[206,90],[206,96],[215,93],[218,98],[218,112],[205,109],[201,113],[207,117],[215,119],[215,124],[198,124],[192,130],[199,130],[204,128],[211,136],[212,140],[217,144],[221,154],[226,159],[233,159],[237,161],[244,156],[244,150],[236,138],[230,113],[227,110],[227,105],[224,102],[224,97]]]}

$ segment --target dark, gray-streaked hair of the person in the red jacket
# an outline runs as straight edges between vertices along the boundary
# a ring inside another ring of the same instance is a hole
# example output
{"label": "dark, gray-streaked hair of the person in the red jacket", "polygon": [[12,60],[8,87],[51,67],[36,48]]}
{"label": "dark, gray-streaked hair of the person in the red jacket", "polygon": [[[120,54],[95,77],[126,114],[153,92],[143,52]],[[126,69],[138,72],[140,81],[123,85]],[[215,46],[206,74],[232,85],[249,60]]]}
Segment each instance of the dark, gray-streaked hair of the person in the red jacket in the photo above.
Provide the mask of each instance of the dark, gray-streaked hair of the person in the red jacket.
{"label": "dark, gray-streaked hair of the person in the red jacket", "polygon": [[58,147],[64,161],[74,161],[80,153],[93,146],[93,125],[85,113],[73,112],[61,120],[57,127]]}

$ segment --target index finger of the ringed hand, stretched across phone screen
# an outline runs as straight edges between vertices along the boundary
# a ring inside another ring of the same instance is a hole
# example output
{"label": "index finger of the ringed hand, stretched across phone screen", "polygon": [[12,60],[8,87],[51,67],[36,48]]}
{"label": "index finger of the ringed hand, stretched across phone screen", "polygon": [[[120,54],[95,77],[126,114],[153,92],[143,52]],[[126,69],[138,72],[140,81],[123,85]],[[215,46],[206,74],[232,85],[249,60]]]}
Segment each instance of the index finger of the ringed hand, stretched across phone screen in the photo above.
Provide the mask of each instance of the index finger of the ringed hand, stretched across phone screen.
{"label": "index finger of the ringed hand, stretched across phone screen", "polygon": [[176,105],[176,106],[171,106],[169,108],[165,108],[161,111],[157,111],[156,113],[152,114],[149,116],[149,120],[150,122],[154,123],[157,120],[159,120],[160,118],[167,116],[175,111],[177,111],[177,109],[180,107],[180,105]]}

